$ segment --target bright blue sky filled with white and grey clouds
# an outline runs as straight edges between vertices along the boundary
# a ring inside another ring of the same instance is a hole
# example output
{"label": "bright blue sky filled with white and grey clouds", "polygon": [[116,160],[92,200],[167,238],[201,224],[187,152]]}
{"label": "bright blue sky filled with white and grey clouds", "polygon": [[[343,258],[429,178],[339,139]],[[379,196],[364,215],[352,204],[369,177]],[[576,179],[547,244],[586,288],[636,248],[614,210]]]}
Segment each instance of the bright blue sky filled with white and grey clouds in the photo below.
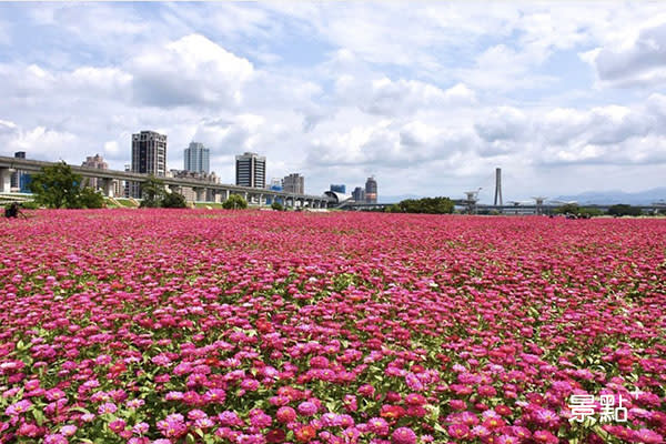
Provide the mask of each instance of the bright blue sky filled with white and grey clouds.
{"label": "bright blue sky filled with white and grey clouds", "polygon": [[129,163],[131,134],[307,192],[638,191],[666,176],[663,2],[0,3],[0,154]]}

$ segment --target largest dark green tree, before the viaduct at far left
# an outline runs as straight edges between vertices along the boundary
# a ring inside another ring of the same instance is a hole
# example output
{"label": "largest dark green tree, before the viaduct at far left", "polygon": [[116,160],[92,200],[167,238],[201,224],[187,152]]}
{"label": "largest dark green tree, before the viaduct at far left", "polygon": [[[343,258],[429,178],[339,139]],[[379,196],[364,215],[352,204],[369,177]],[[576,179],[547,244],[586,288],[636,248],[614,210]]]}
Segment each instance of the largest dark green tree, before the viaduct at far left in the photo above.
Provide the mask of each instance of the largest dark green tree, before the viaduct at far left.
{"label": "largest dark green tree, before the viaduct at far left", "polygon": [[30,191],[34,201],[48,208],[80,208],[82,176],[72,171],[64,161],[42,167],[41,172],[32,175]]}

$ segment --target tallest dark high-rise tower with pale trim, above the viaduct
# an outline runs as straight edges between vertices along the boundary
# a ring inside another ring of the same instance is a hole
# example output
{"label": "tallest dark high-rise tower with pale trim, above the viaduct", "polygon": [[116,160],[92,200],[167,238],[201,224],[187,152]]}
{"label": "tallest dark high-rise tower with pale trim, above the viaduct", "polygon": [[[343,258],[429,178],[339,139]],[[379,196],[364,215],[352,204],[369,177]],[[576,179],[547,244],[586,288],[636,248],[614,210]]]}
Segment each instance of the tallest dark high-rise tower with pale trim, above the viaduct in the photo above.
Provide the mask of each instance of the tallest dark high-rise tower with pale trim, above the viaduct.
{"label": "tallest dark high-rise tower with pale trim, above the viaduct", "polygon": [[[154,131],[132,134],[132,172],[164,176],[167,174],[167,135]],[[141,196],[141,186],[133,182],[133,198]]]}

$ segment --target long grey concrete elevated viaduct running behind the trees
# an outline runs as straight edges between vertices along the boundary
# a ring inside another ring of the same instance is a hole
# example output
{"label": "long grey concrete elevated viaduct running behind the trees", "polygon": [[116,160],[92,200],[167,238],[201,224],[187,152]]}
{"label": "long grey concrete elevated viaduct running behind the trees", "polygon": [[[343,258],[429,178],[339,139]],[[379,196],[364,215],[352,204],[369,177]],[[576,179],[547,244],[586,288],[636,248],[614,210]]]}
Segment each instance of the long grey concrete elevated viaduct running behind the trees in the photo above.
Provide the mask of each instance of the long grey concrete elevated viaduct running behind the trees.
{"label": "long grey concrete elevated viaduct running behind the trees", "polygon": [[[10,192],[11,173],[22,171],[27,173],[40,172],[42,167],[51,167],[54,162],[40,160],[18,159],[0,157],[0,193]],[[150,176],[142,173],[133,173],[117,170],[99,170],[94,168],[70,165],[72,171],[81,174],[83,178],[98,179],[104,194],[113,198],[113,181],[145,182]],[[266,199],[282,199],[285,206],[307,206],[312,209],[323,209],[329,205],[331,198],[325,195],[294,194],[284,191],[272,191],[250,186],[229,185],[223,183],[208,182],[192,178],[158,178],[172,191],[180,191],[181,188],[191,188],[196,193],[196,201],[200,202],[221,202],[231,194],[240,194],[248,202],[265,205]]]}

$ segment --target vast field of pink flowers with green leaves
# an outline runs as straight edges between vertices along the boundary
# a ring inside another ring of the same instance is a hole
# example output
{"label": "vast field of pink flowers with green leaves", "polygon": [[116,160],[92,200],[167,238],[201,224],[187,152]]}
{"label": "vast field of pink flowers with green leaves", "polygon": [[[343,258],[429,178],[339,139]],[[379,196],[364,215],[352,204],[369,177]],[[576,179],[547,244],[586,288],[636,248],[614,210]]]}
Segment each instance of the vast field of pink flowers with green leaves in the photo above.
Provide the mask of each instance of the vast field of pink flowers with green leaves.
{"label": "vast field of pink flowers with green leaves", "polygon": [[38,211],[0,236],[0,443],[666,436],[664,220]]}

